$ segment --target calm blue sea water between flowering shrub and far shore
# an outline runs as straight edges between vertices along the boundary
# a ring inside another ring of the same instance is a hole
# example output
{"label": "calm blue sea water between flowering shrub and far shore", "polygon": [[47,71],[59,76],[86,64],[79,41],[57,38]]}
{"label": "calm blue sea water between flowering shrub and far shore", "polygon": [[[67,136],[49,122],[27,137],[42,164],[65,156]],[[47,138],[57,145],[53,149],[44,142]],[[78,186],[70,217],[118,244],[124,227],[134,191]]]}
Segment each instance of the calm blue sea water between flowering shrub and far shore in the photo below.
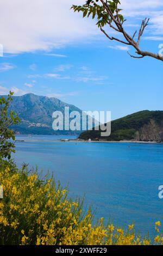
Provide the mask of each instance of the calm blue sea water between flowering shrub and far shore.
{"label": "calm blue sea water between flowering shrub and far shore", "polygon": [[[63,137],[63,136],[62,136]],[[23,139],[25,137],[18,137]],[[58,136],[27,139],[51,140]],[[163,144],[16,142],[15,159],[54,172],[55,180],[69,185],[74,195],[85,194],[85,204],[96,218],[113,219],[125,227],[133,223],[141,234],[154,234],[155,221],[163,224]]]}

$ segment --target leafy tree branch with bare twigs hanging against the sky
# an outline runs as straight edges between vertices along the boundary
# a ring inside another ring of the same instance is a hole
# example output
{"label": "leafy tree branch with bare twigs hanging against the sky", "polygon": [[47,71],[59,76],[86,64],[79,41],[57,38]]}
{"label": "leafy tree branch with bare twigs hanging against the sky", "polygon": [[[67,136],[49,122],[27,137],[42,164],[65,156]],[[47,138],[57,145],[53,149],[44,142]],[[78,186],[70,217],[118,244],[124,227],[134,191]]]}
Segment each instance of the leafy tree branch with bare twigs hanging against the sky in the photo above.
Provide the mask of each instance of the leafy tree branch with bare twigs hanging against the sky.
{"label": "leafy tree branch with bare twigs hanging against the sky", "polygon": [[[145,18],[142,21],[139,32],[135,31],[133,35],[129,35],[124,29],[123,25],[126,22],[123,15],[121,14],[122,9],[120,9],[120,1],[112,0],[112,1],[104,1],[104,0],[87,0],[83,5],[72,5],[71,9],[74,11],[82,11],[83,17],[89,17],[92,15],[92,19],[97,19],[96,25],[99,29],[105,34],[105,36],[109,40],[115,40],[121,42],[122,44],[133,46],[135,48],[134,56],[129,52],[128,54],[133,58],[143,58],[146,56],[158,59],[163,61],[163,56],[160,54],[142,51],[140,49],[140,40],[145,31],[145,28],[148,26],[149,19]],[[116,31],[116,33],[120,33],[123,36],[123,39],[110,36],[108,32],[105,31],[104,27],[109,26],[112,30]],[[136,36],[137,35],[137,36]],[[136,38],[137,37],[137,38]]]}

